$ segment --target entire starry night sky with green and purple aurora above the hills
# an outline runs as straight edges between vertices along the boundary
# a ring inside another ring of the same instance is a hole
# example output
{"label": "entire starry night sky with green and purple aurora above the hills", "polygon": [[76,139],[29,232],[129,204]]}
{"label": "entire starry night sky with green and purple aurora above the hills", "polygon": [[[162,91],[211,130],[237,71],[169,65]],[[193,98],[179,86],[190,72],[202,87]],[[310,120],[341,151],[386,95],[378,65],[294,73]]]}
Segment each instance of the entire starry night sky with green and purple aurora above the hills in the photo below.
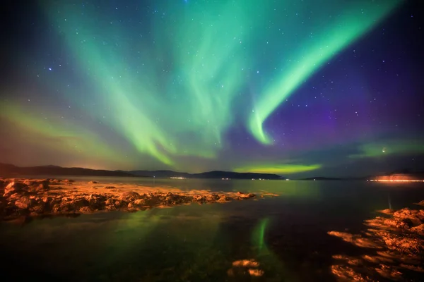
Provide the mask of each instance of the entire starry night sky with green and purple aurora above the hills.
{"label": "entire starry night sky with green and purple aurora above the hills", "polygon": [[0,162],[424,170],[420,1],[8,2]]}

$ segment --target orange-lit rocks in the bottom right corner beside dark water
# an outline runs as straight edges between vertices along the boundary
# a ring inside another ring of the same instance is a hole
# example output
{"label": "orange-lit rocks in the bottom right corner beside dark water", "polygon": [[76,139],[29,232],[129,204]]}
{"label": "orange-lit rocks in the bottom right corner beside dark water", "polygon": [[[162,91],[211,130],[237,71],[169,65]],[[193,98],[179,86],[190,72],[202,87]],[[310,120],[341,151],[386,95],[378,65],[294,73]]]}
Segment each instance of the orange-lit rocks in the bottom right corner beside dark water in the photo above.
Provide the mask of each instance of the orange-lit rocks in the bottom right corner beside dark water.
{"label": "orange-lit rocks in the bottom right corner beside dark water", "polygon": [[[424,201],[417,203],[424,206]],[[424,277],[424,210],[384,209],[365,221],[360,234],[329,235],[362,248],[362,255],[334,255],[331,271],[338,281],[422,281]]]}

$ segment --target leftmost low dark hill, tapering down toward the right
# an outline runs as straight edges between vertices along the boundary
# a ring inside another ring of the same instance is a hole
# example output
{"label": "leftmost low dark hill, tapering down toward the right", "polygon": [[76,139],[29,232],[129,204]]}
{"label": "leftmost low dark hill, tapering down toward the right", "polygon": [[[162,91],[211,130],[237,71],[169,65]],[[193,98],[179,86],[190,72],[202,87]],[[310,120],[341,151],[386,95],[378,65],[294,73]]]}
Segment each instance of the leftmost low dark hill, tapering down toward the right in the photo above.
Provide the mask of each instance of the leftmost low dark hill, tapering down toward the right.
{"label": "leftmost low dark hill, tapering down toward the right", "polygon": [[106,171],[90,168],[64,168],[61,166],[19,167],[13,164],[0,164],[0,176],[124,176],[137,177],[124,171]]}

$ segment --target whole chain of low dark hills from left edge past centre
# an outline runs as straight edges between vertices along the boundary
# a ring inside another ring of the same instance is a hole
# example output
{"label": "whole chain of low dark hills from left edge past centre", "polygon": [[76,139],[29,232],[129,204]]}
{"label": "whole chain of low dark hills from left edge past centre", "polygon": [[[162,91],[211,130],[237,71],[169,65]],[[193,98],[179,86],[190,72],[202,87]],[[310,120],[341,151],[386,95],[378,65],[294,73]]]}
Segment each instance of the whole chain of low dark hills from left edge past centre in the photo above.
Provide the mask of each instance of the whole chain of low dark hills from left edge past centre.
{"label": "whole chain of low dark hills from left edge past centre", "polygon": [[231,178],[231,179],[281,179],[270,173],[237,173],[231,171],[209,171],[204,173],[185,173],[177,171],[106,171],[90,168],[64,168],[61,166],[19,167],[13,164],[0,164],[0,176],[123,176],[157,178]]}

